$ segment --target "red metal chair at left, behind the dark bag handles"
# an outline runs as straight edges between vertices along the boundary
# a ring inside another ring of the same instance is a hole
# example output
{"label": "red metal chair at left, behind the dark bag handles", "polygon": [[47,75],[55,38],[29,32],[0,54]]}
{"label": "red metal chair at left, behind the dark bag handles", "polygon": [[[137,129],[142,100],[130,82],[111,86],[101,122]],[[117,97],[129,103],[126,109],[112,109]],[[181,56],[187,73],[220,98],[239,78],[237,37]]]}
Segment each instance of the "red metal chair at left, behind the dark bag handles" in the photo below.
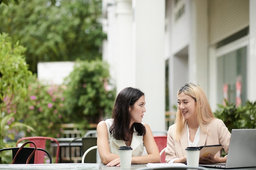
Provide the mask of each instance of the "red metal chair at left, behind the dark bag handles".
{"label": "red metal chair at left, behind the dark bag handles", "polygon": [[[37,148],[42,148],[42,149],[45,149],[46,140],[55,141],[56,144],[57,144],[56,163],[58,163],[58,154],[59,154],[59,150],[60,150],[60,145],[59,145],[58,141],[55,138],[53,138],[53,137],[42,137],[42,136],[22,137],[22,138],[20,138],[17,141],[16,146],[18,146],[18,143],[20,143],[23,140],[25,140],[25,141],[33,141],[36,144]],[[33,147],[33,146],[30,146],[30,147]],[[35,154],[35,155],[37,156],[37,154]],[[38,157],[35,158],[35,160],[36,160],[36,163],[44,163],[44,155],[43,155],[43,153],[39,154]]]}

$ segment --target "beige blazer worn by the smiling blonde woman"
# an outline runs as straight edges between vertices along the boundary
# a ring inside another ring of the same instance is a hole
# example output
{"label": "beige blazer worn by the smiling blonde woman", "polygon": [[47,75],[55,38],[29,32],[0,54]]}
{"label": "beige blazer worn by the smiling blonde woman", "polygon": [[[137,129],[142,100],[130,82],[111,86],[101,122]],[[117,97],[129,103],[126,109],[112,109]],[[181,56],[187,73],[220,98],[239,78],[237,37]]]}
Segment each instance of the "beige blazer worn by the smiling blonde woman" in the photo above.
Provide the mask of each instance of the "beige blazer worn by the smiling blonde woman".
{"label": "beige blazer worn by the smiling blonde woman", "polygon": [[[200,128],[199,146],[221,144],[227,153],[231,133],[224,122],[220,119],[213,119],[209,124],[204,124],[203,126],[206,132]],[[186,155],[185,149],[189,146],[186,124],[183,128],[180,141],[175,140],[175,132],[176,124],[173,124],[169,127],[167,133],[167,148],[165,150],[166,162],[175,158],[184,157]],[[221,152],[219,151],[216,156],[221,157]]]}

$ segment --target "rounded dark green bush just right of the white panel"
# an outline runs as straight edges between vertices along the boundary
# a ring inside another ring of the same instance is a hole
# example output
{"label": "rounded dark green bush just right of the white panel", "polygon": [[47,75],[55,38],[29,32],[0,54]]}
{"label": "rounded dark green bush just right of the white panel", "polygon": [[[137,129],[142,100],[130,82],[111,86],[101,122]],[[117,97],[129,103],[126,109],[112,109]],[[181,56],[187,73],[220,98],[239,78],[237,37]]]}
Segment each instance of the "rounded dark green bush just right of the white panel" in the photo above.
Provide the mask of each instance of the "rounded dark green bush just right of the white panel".
{"label": "rounded dark green bush just right of the white panel", "polygon": [[115,93],[108,90],[109,78],[106,62],[77,61],[74,71],[65,79],[67,118],[98,123],[104,116],[110,116]]}

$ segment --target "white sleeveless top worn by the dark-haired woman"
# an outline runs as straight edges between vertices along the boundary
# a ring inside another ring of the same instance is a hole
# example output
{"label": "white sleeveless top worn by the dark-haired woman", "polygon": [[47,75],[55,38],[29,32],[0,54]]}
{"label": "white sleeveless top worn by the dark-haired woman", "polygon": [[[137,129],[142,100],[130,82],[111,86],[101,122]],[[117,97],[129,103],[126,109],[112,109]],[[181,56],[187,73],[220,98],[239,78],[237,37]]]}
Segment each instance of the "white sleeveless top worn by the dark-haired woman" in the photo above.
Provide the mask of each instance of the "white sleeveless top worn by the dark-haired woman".
{"label": "white sleeveless top worn by the dark-haired woman", "polygon": [[[122,140],[117,140],[113,136],[110,135],[109,128],[113,123],[113,119],[106,119],[105,120],[108,128],[108,140],[109,140],[109,147],[110,147],[110,152],[113,154],[119,155],[119,150],[118,148],[120,146],[126,146],[125,142]],[[143,124],[143,123],[142,123]],[[143,136],[138,136],[136,132],[133,132],[132,134],[132,142],[131,142],[131,147],[132,147],[132,157],[138,157],[142,155],[142,152],[144,150],[143,146]]]}

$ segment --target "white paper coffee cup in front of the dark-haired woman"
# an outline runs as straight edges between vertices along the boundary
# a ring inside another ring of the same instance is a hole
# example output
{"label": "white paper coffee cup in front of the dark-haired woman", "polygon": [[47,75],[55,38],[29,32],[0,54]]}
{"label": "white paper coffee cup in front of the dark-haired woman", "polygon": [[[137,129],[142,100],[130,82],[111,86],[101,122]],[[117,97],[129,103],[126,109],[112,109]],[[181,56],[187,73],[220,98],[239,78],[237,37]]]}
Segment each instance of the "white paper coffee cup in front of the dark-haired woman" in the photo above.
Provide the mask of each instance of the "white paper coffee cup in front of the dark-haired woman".
{"label": "white paper coffee cup in front of the dark-haired woman", "polygon": [[118,150],[121,169],[130,169],[132,164],[132,148],[130,146],[120,146]]}

